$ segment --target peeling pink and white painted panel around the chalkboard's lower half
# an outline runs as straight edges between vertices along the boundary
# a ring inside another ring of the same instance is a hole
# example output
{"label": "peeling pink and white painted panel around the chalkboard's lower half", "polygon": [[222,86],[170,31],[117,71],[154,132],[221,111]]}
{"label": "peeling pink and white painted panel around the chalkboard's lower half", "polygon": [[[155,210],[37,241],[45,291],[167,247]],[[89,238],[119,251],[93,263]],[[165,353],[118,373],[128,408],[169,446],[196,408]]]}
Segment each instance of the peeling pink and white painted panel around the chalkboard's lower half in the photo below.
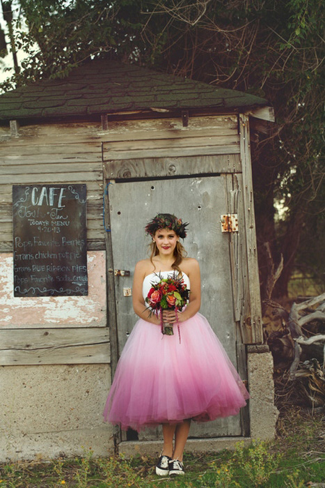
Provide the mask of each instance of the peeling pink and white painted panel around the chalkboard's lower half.
{"label": "peeling pink and white painted panel around the chalkboard's lower half", "polygon": [[105,252],[87,253],[88,296],[13,296],[13,254],[0,254],[0,327],[106,326]]}

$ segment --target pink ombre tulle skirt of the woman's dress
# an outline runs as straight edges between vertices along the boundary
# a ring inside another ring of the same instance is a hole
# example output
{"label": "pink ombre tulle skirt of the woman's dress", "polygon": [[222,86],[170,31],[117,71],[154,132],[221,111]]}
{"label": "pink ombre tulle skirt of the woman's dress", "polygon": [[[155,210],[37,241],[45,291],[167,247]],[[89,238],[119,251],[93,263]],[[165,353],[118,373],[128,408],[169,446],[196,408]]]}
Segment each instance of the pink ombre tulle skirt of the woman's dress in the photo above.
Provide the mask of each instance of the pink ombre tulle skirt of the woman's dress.
{"label": "pink ombre tulle skirt of the woman's dress", "polygon": [[163,422],[237,415],[249,395],[207,319],[180,323],[181,342],[137,321],[120,356],[104,420],[140,431]]}

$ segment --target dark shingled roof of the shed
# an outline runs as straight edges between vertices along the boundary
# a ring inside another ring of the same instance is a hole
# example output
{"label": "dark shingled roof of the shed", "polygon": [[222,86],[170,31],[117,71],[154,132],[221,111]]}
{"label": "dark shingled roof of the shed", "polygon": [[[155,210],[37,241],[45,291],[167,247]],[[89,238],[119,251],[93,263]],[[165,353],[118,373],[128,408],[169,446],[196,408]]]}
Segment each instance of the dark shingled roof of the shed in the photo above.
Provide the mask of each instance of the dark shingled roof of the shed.
{"label": "dark shingled roof of the shed", "polygon": [[64,79],[47,79],[0,95],[0,121],[86,118],[145,109],[216,109],[239,112],[267,100],[165,75],[117,61],[91,61]]}

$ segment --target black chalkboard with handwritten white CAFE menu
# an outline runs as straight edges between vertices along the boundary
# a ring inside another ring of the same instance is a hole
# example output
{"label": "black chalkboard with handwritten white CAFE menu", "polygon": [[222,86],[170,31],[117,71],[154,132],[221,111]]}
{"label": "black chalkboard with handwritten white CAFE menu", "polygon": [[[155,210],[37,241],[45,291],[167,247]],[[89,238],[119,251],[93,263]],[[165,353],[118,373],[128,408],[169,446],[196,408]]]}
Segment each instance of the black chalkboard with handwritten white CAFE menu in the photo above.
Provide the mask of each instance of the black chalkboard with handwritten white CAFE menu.
{"label": "black chalkboard with handwritten white CAFE menu", "polygon": [[13,186],[15,296],[87,295],[86,185]]}

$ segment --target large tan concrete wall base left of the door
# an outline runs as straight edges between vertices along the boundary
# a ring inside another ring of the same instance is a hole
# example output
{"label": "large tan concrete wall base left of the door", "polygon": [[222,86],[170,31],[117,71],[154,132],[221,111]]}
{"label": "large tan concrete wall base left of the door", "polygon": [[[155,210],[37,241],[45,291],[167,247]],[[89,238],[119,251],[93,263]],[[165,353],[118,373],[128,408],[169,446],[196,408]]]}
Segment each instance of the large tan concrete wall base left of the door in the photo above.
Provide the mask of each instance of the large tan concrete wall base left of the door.
{"label": "large tan concrete wall base left of the door", "polygon": [[113,452],[109,365],[0,367],[0,462]]}

